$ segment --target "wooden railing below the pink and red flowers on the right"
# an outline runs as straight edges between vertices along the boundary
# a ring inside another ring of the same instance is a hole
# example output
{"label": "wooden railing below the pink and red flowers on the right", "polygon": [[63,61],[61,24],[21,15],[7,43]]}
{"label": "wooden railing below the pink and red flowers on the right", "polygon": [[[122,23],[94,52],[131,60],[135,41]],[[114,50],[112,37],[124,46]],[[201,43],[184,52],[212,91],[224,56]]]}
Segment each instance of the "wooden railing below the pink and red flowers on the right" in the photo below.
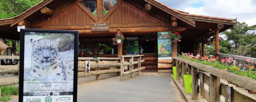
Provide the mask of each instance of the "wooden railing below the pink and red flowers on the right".
{"label": "wooden railing below the pink and red flowers on the right", "polygon": [[[224,102],[256,102],[256,95],[245,90],[256,91],[256,80],[180,57],[173,59],[177,79],[182,79],[183,74],[192,74],[192,99],[201,96],[207,102],[221,102],[221,96],[224,96]],[[181,87],[184,87],[184,82]]]}

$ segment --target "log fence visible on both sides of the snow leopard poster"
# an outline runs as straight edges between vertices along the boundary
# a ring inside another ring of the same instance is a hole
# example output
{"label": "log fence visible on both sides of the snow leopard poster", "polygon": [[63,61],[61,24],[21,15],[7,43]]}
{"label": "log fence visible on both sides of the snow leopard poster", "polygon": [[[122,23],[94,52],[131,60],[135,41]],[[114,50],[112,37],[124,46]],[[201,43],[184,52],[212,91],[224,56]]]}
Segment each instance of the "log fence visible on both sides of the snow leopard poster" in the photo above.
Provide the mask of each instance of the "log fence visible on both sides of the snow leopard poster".
{"label": "log fence visible on both sides of the snow leopard poster", "polygon": [[[84,72],[79,72],[78,77],[87,77],[87,76],[96,76],[96,80],[100,79],[101,74],[112,74],[112,73],[119,73],[120,76],[124,76],[127,74],[133,74],[136,71],[141,71],[145,68],[138,68],[133,69],[130,71],[124,72],[125,66],[131,66],[130,62],[125,62],[124,57],[140,57],[143,55],[135,55],[135,56],[122,56],[122,60],[120,58],[110,58],[110,57],[97,57],[96,63],[91,63],[90,68],[96,68],[96,71],[89,71],[87,72],[85,68],[85,64],[81,63],[78,65],[79,69],[83,69]],[[19,56],[0,56],[0,59],[20,59]],[[93,57],[79,57],[79,60],[93,60]],[[100,63],[101,60],[120,60],[120,62],[116,63]],[[121,62],[122,61],[122,62]],[[132,60],[133,61],[133,60]],[[141,60],[141,62],[145,62],[145,60]],[[138,61],[132,62],[132,64],[138,64]],[[138,65],[139,66],[139,65]],[[100,70],[101,68],[111,68],[117,67],[117,69],[109,69],[109,70]],[[17,74],[19,72],[19,64],[18,65],[0,65],[0,74]],[[140,72],[141,75],[141,72]],[[122,78],[121,78],[122,79]],[[0,87],[1,86],[9,86],[9,85],[16,85],[19,84],[18,77],[11,77],[11,78],[3,78],[0,79]],[[0,96],[1,96],[1,88],[0,88]]]}

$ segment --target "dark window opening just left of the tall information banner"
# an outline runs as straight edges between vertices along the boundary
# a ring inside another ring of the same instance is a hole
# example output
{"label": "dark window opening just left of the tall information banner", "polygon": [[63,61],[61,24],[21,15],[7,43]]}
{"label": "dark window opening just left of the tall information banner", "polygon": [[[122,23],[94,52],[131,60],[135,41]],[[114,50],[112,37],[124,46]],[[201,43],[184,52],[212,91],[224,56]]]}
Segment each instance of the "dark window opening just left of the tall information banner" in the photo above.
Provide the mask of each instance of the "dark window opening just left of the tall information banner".
{"label": "dark window opening just left of the tall information banner", "polygon": [[157,54],[157,41],[156,40],[143,40],[141,41],[141,54]]}

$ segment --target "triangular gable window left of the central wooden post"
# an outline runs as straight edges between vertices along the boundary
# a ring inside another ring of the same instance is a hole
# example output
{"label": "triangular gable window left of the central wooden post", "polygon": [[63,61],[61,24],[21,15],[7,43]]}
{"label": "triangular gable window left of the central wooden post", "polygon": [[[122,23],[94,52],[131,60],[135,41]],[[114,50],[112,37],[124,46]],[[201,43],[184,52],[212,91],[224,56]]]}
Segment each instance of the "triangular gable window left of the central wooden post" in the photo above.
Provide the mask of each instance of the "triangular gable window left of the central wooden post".
{"label": "triangular gable window left of the central wooden post", "polygon": [[97,17],[97,0],[84,0],[82,3]]}

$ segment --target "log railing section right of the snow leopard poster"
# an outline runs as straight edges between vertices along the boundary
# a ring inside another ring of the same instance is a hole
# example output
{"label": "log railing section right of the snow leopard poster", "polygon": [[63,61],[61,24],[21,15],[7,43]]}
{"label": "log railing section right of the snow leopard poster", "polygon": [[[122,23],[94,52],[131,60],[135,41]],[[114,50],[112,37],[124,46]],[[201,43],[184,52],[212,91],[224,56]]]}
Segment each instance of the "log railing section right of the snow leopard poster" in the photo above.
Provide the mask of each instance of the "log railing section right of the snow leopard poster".
{"label": "log railing section right of the snow leopard poster", "polygon": [[[112,73],[119,73],[121,76],[121,80],[123,79],[123,76],[131,74],[131,77],[133,77],[133,73],[139,71],[139,74],[141,75],[141,70],[145,69],[145,67],[141,68],[139,65],[139,59],[138,61],[133,61],[134,57],[141,57],[144,55],[134,55],[134,56],[122,56],[120,58],[109,58],[109,57],[98,57],[96,63],[91,63],[90,68],[96,68],[96,71],[89,71],[87,72],[85,69],[85,64],[79,64],[78,68],[82,69],[84,72],[79,72],[78,77],[87,77],[87,76],[96,76],[96,80],[100,79],[101,74],[112,74]],[[129,62],[125,62],[124,58],[130,57]],[[100,63],[101,60],[120,60],[120,62],[114,62],[114,63]],[[93,60],[93,57],[83,57],[79,58],[79,60]],[[141,60],[141,62],[145,62],[145,60]],[[125,67],[138,64],[137,69],[130,68],[129,71],[124,72]],[[101,68],[112,68],[116,67],[116,69],[108,69],[108,70],[100,70]]]}

